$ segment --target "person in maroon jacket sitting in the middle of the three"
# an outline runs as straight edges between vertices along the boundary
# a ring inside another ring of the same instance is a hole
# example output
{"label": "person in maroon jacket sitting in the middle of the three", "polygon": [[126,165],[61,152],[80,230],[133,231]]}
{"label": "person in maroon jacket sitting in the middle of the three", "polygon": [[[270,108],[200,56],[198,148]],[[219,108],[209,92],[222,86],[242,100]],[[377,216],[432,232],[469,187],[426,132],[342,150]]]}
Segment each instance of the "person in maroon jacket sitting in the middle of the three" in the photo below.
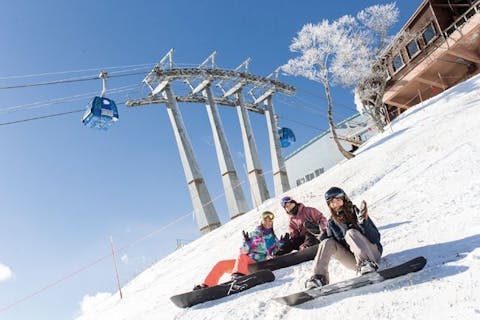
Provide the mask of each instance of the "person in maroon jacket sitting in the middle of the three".
{"label": "person in maroon jacket sitting in the middle of the three", "polygon": [[[292,197],[283,197],[282,207],[290,217],[288,233],[281,237],[283,245],[277,255],[283,255],[293,250],[303,250],[318,244],[318,239],[314,233],[310,232],[305,224],[317,225],[321,233],[327,228],[327,218],[319,210],[306,207],[303,203],[295,201]],[[315,232],[317,233],[317,232]]]}

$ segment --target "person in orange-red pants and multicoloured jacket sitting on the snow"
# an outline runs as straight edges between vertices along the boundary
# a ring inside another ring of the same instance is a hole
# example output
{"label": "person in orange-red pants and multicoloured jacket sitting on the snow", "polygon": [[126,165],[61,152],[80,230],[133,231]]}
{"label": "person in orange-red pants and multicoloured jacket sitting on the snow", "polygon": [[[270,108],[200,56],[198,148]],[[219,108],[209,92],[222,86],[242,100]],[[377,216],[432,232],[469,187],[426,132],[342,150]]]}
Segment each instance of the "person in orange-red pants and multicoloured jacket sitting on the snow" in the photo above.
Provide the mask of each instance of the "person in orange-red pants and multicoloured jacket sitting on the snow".
{"label": "person in orange-red pants and multicoloured jacket sitting on the snow", "polygon": [[270,211],[262,212],[260,225],[254,231],[250,233],[242,231],[244,241],[238,258],[217,262],[203,283],[193,289],[215,286],[225,273],[231,273],[232,280],[247,275],[250,273],[249,264],[272,258],[282,244],[273,231],[274,217]]}

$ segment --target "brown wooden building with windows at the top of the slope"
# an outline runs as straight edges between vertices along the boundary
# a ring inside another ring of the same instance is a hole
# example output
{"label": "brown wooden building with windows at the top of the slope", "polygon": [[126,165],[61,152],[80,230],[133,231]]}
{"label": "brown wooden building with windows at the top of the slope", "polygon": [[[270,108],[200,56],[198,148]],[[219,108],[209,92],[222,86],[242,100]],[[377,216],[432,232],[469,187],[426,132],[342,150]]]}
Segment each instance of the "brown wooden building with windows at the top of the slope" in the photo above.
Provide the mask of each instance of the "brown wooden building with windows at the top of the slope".
{"label": "brown wooden building with windows at the top of the slope", "polygon": [[480,0],[424,0],[387,48],[391,118],[480,72]]}

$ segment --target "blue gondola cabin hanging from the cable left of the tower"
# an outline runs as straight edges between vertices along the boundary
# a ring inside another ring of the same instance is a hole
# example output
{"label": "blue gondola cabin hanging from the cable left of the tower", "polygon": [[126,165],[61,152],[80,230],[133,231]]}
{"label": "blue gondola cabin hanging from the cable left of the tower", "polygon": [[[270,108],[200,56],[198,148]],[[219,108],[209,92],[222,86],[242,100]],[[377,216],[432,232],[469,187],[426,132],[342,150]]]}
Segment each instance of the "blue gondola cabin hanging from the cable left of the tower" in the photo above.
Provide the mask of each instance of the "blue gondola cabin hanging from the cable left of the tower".
{"label": "blue gondola cabin hanging from the cable left of the tower", "polygon": [[98,77],[102,79],[102,93],[87,105],[82,123],[88,128],[108,130],[112,123],[118,120],[118,109],[115,101],[104,97],[108,74],[102,72]]}

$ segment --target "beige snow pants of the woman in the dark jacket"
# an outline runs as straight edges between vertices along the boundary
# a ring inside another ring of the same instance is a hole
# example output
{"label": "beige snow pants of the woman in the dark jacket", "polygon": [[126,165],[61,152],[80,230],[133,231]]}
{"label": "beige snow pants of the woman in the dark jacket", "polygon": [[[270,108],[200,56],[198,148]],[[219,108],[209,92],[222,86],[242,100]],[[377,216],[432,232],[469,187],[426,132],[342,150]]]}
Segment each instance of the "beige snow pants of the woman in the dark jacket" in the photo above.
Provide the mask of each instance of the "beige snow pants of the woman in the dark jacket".
{"label": "beige snow pants of the woman in the dark jacket", "polygon": [[371,243],[360,231],[348,230],[345,234],[345,242],[350,250],[334,238],[327,238],[320,242],[313,261],[313,273],[321,274],[329,281],[328,264],[332,256],[352,270],[355,270],[357,264],[364,260],[379,263],[382,254],[378,251],[377,245]]}

